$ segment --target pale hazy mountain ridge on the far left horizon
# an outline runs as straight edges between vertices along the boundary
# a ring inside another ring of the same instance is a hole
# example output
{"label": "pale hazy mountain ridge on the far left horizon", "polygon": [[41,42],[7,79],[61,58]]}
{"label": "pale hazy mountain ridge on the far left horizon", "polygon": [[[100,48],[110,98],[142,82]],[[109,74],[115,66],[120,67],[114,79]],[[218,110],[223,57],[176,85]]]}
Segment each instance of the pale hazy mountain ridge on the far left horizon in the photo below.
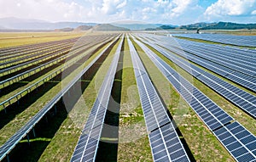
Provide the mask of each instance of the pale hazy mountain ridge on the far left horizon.
{"label": "pale hazy mountain ridge on the far left horizon", "polygon": [[52,23],[44,20],[26,20],[14,17],[0,19],[0,26],[2,29],[9,30],[55,30],[64,28],[77,28],[80,25],[94,26],[96,23],[82,23],[82,22],[57,22]]}

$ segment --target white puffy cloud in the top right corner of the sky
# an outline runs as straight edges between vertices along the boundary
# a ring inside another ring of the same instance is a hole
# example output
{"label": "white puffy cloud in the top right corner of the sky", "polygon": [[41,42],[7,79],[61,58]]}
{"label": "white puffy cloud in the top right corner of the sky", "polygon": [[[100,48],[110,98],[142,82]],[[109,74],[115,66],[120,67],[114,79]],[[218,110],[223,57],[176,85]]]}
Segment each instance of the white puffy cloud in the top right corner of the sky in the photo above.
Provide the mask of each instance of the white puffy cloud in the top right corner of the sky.
{"label": "white puffy cloud in the top right corner of the sky", "polygon": [[256,8],[256,0],[218,0],[204,13],[208,17],[248,15]]}

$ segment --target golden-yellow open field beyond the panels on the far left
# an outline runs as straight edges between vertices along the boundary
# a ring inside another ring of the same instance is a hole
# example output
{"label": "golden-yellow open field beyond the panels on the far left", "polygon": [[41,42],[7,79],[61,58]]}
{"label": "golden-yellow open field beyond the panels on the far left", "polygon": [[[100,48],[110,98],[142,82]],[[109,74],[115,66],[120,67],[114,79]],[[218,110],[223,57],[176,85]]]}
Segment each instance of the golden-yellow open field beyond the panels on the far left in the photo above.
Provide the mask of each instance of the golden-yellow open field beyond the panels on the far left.
{"label": "golden-yellow open field beyond the panels on the far left", "polygon": [[74,32],[0,32],[0,48],[21,46],[40,42],[59,41],[84,36]]}

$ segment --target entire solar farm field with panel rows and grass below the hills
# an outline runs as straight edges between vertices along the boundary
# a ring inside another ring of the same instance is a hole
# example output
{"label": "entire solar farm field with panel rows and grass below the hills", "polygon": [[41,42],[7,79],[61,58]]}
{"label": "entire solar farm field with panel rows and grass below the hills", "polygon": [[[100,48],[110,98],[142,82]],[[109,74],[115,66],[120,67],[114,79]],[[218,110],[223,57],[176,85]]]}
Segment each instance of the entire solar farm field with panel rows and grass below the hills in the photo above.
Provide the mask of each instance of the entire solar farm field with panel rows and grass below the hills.
{"label": "entire solar farm field with panel rows and grass below the hills", "polygon": [[51,34],[0,36],[0,161],[256,161],[256,36]]}

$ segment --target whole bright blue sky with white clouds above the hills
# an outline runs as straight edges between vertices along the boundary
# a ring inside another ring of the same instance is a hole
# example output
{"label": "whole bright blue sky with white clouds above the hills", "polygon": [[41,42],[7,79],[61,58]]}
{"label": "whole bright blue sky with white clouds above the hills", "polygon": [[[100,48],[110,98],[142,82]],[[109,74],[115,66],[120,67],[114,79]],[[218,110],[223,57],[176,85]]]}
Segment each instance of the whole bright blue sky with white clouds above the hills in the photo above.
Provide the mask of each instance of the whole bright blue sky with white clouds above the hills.
{"label": "whole bright blue sky with white clouds above the hills", "polygon": [[256,23],[256,0],[0,0],[0,18],[187,25]]}

